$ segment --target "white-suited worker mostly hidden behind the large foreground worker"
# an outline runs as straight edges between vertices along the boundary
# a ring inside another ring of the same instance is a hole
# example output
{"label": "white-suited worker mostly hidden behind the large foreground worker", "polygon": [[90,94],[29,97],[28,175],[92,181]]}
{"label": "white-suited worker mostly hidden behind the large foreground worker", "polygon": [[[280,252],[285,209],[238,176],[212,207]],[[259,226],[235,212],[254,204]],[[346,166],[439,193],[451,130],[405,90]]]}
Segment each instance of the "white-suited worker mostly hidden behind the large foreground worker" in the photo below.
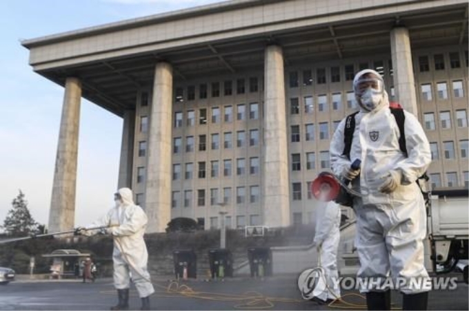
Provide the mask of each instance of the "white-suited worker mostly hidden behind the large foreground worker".
{"label": "white-suited worker mostly hidden behind the large foreground worker", "polygon": [[335,202],[320,202],[316,209],[316,233],[313,243],[318,253],[318,266],[323,268],[326,290],[313,292],[314,301],[330,303],[339,299],[339,273],[337,272],[337,248],[340,240],[341,208]]}

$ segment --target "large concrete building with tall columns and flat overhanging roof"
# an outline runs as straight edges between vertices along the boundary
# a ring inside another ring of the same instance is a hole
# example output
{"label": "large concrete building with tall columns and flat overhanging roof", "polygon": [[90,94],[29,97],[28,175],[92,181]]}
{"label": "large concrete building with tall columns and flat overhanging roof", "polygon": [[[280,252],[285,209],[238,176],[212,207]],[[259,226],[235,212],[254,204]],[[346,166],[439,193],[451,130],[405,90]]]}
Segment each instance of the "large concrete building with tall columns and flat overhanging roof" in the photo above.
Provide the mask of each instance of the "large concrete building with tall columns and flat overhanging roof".
{"label": "large concrete building with tall columns and flat overhanging roof", "polygon": [[80,99],[123,118],[119,187],[150,218],[307,224],[352,78],[421,120],[435,187],[467,187],[467,0],[234,0],[23,41],[65,87],[49,226],[74,226]]}

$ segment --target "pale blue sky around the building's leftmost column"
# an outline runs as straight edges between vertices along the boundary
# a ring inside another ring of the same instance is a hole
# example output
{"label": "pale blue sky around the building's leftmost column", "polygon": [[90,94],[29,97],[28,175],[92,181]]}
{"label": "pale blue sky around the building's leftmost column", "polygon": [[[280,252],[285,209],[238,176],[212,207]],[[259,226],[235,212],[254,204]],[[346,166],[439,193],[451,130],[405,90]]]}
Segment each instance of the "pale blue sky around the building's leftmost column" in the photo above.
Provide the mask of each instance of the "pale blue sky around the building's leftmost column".
{"label": "pale blue sky around the building's leftmost column", "polygon": [[[48,224],[63,87],[32,71],[23,39],[193,8],[219,0],[0,1],[0,226],[19,190]],[[75,225],[101,217],[117,190],[122,119],[81,100]]]}

